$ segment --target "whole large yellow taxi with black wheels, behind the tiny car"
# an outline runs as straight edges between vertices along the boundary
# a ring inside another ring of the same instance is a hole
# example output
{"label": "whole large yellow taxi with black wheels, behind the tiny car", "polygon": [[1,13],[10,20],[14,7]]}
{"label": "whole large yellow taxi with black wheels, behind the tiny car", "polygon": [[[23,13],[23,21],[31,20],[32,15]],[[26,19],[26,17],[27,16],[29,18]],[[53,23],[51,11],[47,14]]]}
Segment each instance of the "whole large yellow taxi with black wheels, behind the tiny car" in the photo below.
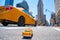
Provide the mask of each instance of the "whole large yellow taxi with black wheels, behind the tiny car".
{"label": "whole large yellow taxi with black wheels, behind the tiny car", "polygon": [[24,8],[13,6],[0,6],[0,23],[4,26],[8,24],[18,24],[18,26],[36,25],[36,20],[23,11]]}

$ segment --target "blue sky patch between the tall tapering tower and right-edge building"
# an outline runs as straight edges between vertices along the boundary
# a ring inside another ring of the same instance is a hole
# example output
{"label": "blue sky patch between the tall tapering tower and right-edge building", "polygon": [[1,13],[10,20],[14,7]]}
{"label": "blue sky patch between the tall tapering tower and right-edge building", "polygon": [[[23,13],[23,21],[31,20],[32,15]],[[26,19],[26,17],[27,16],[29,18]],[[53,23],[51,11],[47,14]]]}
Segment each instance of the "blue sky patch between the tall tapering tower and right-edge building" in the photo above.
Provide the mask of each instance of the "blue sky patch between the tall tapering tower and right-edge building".
{"label": "blue sky patch between the tall tapering tower and right-edge building", "polygon": [[[46,19],[49,22],[51,17],[51,12],[55,12],[54,0],[43,0],[43,3],[44,3],[44,14],[46,14]],[[48,9],[50,12],[49,11],[46,12],[45,9]]]}

